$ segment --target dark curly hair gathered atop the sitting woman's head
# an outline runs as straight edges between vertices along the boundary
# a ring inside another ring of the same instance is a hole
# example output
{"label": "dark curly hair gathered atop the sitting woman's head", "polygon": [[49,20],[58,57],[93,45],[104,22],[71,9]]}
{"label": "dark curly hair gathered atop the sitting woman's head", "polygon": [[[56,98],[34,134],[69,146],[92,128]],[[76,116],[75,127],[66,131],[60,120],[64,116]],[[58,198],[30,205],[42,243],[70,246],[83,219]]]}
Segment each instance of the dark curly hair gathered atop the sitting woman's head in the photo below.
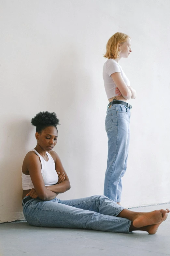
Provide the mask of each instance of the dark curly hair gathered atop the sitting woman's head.
{"label": "dark curly hair gathered atop the sitting woman's head", "polygon": [[56,113],[50,113],[48,111],[36,114],[36,116],[31,119],[31,124],[36,126],[36,131],[39,133],[48,126],[54,126],[57,129],[57,125],[60,125]]}

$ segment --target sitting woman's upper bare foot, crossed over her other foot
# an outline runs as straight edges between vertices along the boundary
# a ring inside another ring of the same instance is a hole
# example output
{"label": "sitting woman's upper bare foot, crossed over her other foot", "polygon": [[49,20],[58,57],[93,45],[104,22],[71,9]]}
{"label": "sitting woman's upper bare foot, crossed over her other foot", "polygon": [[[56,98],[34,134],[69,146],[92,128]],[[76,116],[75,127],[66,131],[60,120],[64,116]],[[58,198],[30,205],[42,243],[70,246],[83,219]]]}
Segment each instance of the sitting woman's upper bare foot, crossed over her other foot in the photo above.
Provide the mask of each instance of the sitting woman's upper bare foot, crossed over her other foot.
{"label": "sitting woman's upper bare foot, crossed over her other foot", "polygon": [[166,213],[168,212],[168,209],[161,209],[149,213],[137,213],[133,219],[133,226],[136,228],[141,228],[144,226],[158,224],[163,221],[165,217],[167,218]]}

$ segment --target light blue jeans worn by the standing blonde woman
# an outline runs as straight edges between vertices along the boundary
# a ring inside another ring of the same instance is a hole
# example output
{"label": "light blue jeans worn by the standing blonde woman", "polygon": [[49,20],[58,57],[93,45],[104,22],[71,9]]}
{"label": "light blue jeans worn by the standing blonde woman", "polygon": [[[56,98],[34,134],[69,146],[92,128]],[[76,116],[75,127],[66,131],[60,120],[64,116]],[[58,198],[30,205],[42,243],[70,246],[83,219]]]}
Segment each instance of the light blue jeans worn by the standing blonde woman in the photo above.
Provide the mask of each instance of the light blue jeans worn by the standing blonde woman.
{"label": "light blue jeans worn by the standing blonde woman", "polygon": [[114,202],[120,202],[122,177],[126,172],[129,152],[131,114],[130,109],[121,104],[113,104],[106,113],[108,157],[104,195]]}

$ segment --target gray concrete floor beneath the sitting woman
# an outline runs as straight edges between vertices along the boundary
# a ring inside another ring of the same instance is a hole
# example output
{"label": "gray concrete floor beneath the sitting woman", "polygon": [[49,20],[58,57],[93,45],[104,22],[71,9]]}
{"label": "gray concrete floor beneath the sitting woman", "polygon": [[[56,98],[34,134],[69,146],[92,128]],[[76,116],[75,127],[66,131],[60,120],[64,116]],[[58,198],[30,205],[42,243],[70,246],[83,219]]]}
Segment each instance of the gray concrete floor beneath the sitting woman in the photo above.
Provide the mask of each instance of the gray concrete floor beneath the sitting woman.
{"label": "gray concrete floor beneath the sitting woman", "polygon": [[[169,204],[133,208],[153,211]],[[131,234],[94,230],[39,228],[27,222],[0,224],[0,256],[158,256],[170,255],[170,216],[155,235],[135,231]]]}

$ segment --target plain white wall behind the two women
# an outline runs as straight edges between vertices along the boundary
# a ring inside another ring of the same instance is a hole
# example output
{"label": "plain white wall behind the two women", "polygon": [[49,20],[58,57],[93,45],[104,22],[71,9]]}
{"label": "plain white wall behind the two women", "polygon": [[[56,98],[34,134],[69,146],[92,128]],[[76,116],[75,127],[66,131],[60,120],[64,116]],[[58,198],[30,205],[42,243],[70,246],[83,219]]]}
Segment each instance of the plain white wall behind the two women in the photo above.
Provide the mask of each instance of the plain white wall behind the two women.
{"label": "plain white wall behind the two women", "polygon": [[21,166],[36,145],[30,120],[60,119],[55,150],[71,181],[60,198],[103,194],[107,98],[102,69],[107,40],[132,38],[120,61],[137,91],[122,204],[169,199],[169,0],[0,1],[0,222],[22,219]]}

